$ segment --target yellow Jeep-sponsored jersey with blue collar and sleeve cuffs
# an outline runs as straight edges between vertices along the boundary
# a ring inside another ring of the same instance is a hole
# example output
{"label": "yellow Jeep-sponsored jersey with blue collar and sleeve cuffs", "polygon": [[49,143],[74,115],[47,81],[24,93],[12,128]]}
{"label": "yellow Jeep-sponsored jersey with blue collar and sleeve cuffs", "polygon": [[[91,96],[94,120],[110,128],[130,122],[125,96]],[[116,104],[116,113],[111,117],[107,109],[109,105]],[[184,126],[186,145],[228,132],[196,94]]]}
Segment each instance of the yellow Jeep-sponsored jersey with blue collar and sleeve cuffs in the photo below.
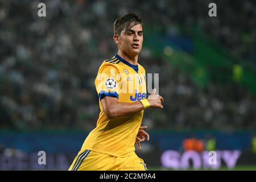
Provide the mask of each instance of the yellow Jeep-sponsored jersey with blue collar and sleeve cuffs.
{"label": "yellow Jeep-sponsored jersey with blue collar and sleeve cuffs", "polygon": [[114,55],[105,60],[95,80],[100,115],[82,145],[82,150],[92,150],[113,156],[129,156],[135,151],[135,139],[142,123],[143,111],[125,117],[108,119],[101,105],[105,96],[117,97],[118,102],[132,103],[146,98],[145,69]]}

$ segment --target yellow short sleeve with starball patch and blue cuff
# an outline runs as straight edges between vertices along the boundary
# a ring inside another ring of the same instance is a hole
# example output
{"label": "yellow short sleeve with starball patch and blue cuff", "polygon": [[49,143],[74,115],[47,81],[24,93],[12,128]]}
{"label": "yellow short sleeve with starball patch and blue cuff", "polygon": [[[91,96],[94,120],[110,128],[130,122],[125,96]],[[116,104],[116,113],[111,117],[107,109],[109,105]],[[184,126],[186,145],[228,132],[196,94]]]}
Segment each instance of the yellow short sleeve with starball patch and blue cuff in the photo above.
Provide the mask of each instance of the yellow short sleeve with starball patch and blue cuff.
{"label": "yellow short sleeve with starball patch and blue cuff", "polygon": [[98,98],[101,100],[104,96],[119,97],[120,76],[117,68],[112,65],[106,65],[100,68],[95,80],[95,86]]}

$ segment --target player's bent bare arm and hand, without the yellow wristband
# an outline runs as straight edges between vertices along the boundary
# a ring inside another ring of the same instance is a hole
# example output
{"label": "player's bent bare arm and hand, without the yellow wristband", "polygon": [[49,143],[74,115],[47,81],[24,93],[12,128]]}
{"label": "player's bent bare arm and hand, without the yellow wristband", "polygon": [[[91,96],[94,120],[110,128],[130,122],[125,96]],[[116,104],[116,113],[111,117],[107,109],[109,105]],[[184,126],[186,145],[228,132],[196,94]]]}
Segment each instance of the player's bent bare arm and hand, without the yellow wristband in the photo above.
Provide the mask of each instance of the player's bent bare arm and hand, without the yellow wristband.
{"label": "player's bent bare arm and hand, without the yellow wristband", "polygon": [[[155,95],[155,89],[152,94],[148,97],[150,107],[163,108],[162,102],[163,97]],[[118,98],[106,96],[101,99],[101,105],[103,107],[106,117],[109,119],[123,117],[129,114],[134,114],[144,109],[144,106],[140,101],[133,103],[118,102]]]}

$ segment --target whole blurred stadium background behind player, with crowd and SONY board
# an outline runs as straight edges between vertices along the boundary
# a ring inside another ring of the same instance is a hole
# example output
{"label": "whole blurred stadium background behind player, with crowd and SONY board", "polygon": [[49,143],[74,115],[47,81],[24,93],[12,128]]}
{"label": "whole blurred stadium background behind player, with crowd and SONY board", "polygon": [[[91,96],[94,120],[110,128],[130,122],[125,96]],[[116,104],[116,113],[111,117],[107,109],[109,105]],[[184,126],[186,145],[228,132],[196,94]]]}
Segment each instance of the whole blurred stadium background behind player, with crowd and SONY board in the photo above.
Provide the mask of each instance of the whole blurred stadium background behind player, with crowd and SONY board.
{"label": "whole blurred stadium background behind player, with crowd and SONY board", "polygon": [[[211,2],[217,17],[208,16]],[[144,24],[139,63],[159,73],[165,101],[144,114],[150,141],[136,150],[148,169],[255,170],[255,8],[253,0],[1,1],[0,169],[68,169],[96,126],[94,78],[117,53],[113,22],[134,12]]]}

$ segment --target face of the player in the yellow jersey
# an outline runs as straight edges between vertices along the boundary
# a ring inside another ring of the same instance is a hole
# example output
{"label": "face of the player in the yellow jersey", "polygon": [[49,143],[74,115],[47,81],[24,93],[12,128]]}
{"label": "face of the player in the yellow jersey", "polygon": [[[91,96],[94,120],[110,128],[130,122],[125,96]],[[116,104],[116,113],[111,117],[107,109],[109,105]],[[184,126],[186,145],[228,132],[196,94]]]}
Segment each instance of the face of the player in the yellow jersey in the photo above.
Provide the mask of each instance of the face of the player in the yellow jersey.
{"label": "face of the player in the yellow jersey", "polygon": [[143,29],[141,24],[131,27],[129,30],[122,31],[121,35],[115,39],[119,49],[127,56],[137,56],[142,49]]}

